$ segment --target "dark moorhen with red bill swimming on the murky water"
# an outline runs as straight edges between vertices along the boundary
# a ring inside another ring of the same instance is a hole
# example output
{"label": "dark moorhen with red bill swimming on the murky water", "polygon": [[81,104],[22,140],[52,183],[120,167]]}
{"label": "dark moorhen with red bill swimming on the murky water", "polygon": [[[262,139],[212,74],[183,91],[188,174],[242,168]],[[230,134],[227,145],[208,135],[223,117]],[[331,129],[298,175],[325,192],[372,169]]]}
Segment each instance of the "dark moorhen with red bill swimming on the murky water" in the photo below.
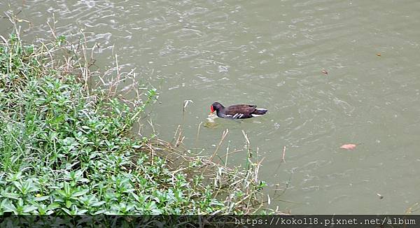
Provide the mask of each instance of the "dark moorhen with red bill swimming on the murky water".
{"label": "dark moorhen with red bill swimming on the murky water", "polygon": [[210,111],[211,113],[216,111],[218,117],[232,119],[246,119],[267,113],[267,109],[257,108],[257,106],[251,106],[249,104],[235,104],[225,108],[225,106],[218,102],[211,104]]}

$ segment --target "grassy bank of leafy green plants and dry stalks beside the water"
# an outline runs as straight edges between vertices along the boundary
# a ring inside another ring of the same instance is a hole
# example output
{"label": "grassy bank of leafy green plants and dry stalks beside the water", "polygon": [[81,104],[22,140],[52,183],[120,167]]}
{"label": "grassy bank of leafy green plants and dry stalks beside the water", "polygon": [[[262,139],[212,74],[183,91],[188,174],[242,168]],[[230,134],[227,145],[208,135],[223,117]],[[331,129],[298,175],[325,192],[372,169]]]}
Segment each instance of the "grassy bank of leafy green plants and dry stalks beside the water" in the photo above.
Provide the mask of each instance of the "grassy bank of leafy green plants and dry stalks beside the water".
{"label": "grassy bank of leafy green plants and dry stalks beside the water", "polygon": [[155,90],[134,83],[137,97],[125,99],[116,88],[130,73],[105,83],[112,77],[90,71],[85,43],[56,36],[25,44],[18,34],[0,37],[0,215],[242,214],[262,206],[251,156],[246,169],[229,169],[133,134]]}

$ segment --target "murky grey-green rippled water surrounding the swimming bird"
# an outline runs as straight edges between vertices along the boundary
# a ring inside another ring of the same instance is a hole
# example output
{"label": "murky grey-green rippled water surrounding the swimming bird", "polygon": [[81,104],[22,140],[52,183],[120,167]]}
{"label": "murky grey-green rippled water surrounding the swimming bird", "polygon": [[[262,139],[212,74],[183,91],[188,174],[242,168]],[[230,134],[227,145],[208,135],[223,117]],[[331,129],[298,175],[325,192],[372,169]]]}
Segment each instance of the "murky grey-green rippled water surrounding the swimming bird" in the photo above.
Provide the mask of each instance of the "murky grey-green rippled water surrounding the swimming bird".
{"label": "murky grey-green rippled water surrounding the swimming bird", "polygon": [[[160,91],[151,120],[172,140],[225,155],[246,131],[272,207],[291,213],[404,213],[420,201],[420,2],[413,1],[10,1],[28,37],[84,29],[97,65],[136,68]],[[1,19],[0,32],[10,31]],[[325,70],[328,74],[323,73]],[[257,104],[265,116],[197,127],[214,101]],[[150,133],[146,123],[144,133]],[[360,143],[342,150],[344,143]],[[286,145],[286,163],[281,162]],[[244,164],[236,152],[229,164]],[[277,186],[278,185],[278,186]],[[274,189],[288,186],[273,199]],[[380,199],[377,194],[384,196]],[[286,202],[286,201],[290,202]]]}

